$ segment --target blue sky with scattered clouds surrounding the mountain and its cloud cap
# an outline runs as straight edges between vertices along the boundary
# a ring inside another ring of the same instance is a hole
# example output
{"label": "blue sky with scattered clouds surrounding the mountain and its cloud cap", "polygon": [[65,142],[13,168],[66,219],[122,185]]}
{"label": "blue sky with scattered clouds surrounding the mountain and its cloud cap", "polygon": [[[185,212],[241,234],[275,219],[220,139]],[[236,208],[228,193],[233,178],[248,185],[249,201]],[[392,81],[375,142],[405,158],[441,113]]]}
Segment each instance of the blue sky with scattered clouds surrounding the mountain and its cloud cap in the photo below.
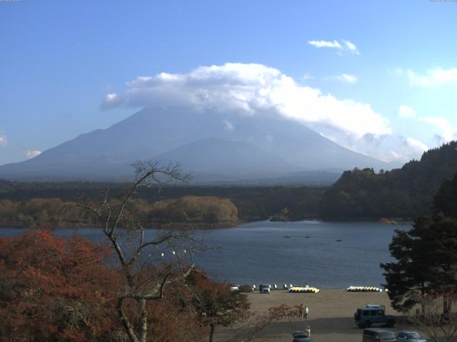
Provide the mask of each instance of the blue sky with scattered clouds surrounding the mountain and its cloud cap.
{"label": "blue sky with scattered clouds surrounding the mountain and its cloud cap", "polygon": [[[0,165],[135,113],[139,76],[225,63],[274,68],[337,110],[369,105],[359,115],[387,121],[286,115],[384,160],[418,157],[457,138],[456,16],[428,0],[0,1]],[[124,102],[101,110],[107,94]]]}

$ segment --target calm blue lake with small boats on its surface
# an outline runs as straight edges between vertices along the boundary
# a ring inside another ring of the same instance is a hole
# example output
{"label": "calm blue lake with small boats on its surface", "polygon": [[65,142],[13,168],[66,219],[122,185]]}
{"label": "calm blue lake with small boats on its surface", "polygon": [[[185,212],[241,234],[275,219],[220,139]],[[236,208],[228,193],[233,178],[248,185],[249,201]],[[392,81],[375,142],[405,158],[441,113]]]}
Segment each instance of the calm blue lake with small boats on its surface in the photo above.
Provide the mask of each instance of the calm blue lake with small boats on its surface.
{"label": "calm blue lake with small boats on its surface", "polygon": [[[220,248],[197,255],[196,264],[215,279],[233,284],[380,286],[384,279],[379,264],[391,261],[393,230],[410,228],[378,222],[251,222],[206,231],[206,243]],[[0,228],[3,237],[21,232]],[[56,229],[55,234],[103,239],[100,229]]]}

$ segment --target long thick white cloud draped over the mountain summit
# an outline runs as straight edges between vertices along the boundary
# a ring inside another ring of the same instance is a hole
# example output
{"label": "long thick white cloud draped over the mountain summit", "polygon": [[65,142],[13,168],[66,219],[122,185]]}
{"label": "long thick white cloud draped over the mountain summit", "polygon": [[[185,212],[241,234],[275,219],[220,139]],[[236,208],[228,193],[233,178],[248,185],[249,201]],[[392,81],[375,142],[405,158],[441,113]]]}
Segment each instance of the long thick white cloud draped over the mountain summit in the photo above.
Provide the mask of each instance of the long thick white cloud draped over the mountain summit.
{"label": "long thick white cloud draped over the mountain summit", "polygon": [[226,63],[201,66],[189,73],[159,73],[127,83],[124,95],[106,95],[102,109],[174,107],[244,115],[276,113],[303,124],[337,130],[351,139],[392,133],[387,118],[367,103],[338,99],[317,88],[301,86],[276,68]]}

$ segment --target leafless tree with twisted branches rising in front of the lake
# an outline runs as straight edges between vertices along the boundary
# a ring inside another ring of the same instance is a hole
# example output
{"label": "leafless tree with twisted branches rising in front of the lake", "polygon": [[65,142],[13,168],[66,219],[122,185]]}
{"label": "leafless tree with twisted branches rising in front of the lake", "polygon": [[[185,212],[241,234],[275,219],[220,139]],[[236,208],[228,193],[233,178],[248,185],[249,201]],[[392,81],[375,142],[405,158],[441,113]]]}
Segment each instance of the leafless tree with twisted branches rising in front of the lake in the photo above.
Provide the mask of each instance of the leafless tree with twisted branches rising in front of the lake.
{"label": "leafless tree with twisted branches rising in front of the lake", "polygon": [[[99,202],[76,204],[97,218],[125,277],[125,288],[117,296],[116,311],[130,342],[148,339],[148,301],[164,298],[167,285],[185,279],[194,270],[193,252],[201,245],[189,232],[145,232],[129,202],[140,187],[189,180],[180,165],[161,167],[159,162],[136,162],[136,180],[120,201],[111,201],[105,190]],[[151,237],[152,235],[152,237]],[[163,257],[164,254],[169,258]],[[165,260],[165,261],[164,261]]]}

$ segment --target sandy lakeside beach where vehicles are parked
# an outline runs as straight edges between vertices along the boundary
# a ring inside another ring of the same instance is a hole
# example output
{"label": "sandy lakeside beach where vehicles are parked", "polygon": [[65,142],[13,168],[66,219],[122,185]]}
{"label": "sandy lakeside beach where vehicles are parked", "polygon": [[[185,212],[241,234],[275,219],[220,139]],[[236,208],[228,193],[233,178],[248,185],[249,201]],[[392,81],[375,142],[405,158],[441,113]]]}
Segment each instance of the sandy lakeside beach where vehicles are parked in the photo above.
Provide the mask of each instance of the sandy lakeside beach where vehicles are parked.
{"label": "sandy lakeside beach where vehicles are parked", "polygon": [[363,308],[366,304],[383,304],[386,306],[386,314],[396,316],[397,323],[389,330],[398,331],[404,328],[416,330],[413,326],[402,325],[401,315],[391,308],[386,292],[354,293],[343,289],[322,289],[318,294],[292,294],[277,290],[272,291],[271,294],[253,292],[248,294],[248,299],[253,311],[267,311],[272,306],[281,304],[294,306],[301,303],[307,305],[309,309],[307,319],[273,323],[265,328],[256,341],[291,342],[293,331],[311,326],[311,337],[315,342],[361,342],[363,329],[356,326],[353,314],[357,308]]}

